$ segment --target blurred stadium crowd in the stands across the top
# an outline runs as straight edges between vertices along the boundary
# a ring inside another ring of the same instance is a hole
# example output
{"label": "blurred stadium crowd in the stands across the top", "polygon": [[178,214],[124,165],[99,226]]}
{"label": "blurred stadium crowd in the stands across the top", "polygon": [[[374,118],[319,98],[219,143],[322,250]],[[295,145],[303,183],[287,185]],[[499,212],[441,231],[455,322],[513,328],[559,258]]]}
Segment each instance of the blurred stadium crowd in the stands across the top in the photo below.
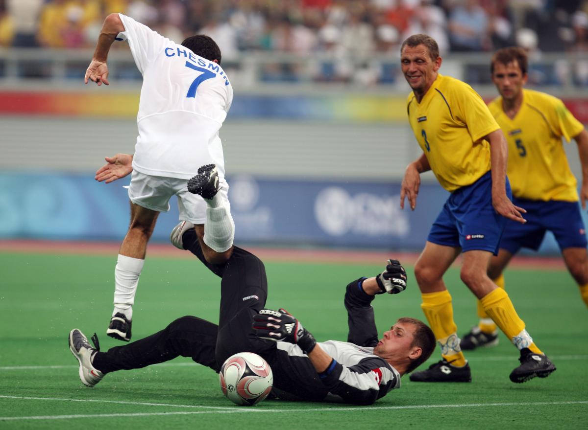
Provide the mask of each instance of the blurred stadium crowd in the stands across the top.
{"label": "blurred stadium crowd in the stands across the top", "polygon": [[[380,83],[397,81],[399,44],[415,33],[435,38],[442,55],[512,45],[536,53],[588,52],[587,0],[0,0],[0,46],[88,48],[111,12],[173,41],[206,33],[226,62],[250,52],[330,58],[311,72],[330,82],[350,82],[357,66],[348,59],[370,56],[391,60],[377,66]],[[489,78],[483,72],[472,68],[466,78],[482,82]],[[262,79],[298,80],[299,74],[299,67],[282,63],[266,67]],[[540,70],[545,82],[538,83],[561,83],[556,74]],[[588,84],[588,65],[584,75]]]}

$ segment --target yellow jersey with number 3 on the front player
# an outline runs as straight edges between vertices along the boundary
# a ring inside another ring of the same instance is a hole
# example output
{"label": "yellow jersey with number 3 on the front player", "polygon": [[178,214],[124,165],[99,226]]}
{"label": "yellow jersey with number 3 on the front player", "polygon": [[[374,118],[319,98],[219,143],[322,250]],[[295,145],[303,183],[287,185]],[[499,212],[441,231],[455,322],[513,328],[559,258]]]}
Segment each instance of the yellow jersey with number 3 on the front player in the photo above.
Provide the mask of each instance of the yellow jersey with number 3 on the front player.
{"label": "yellow jersey with number 3 on the front player", "polygon": [[437,75],[420,103],[407,99],[410,126],[443,188],[471,185],[490,170],[490,144],[500,127],[486,103],[467,83]]}

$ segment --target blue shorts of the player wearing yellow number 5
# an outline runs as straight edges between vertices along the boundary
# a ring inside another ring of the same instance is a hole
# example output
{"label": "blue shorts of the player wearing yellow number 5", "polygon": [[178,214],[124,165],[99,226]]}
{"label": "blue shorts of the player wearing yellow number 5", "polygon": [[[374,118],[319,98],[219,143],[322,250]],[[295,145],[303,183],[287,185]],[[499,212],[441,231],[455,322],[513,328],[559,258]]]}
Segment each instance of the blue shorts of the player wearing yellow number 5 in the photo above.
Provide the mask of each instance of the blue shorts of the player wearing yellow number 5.
{"label": "blue shorts of the player wearing yellow number 5", "polygon": [[526,224],[506,221],[500,248],[516,254],[520,248],[538,250],[547,230],[553,233],[560,250],[586,248],[586,230],[577,201],[542,201],[513,199],[516,206],[526,209]]}

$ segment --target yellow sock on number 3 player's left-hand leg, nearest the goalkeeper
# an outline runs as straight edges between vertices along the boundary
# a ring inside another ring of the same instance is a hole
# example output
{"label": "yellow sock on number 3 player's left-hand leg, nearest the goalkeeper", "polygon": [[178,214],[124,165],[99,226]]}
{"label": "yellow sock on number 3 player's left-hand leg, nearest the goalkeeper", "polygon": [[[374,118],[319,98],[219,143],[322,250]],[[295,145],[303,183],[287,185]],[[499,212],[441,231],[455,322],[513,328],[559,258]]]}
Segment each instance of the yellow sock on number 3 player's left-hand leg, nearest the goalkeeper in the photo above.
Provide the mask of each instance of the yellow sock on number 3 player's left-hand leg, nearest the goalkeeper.
{"label": "yellow sock on number 3 player's left-hand leg, nearest the goalkeeper", "polygon": [[441,347],[441,356],[457,367],[465,366],[467,361],[459,347],[457,326],[453,321],[453,305],[449,291],[423,293],[420,307],[429,321],[435,338]]}

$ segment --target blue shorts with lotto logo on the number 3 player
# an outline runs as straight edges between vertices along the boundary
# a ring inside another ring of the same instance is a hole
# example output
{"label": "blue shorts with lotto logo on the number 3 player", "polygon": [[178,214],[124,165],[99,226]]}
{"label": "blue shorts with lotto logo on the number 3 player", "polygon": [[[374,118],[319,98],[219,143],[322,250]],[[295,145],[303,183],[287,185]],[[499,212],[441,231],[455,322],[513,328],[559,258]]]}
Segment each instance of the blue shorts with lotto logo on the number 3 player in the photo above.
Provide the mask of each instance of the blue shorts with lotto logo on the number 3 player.
{"label": "blue shorts with lotto logo on the number 3 player", "polygon": [[[506,178],[506,195],[512,198]],[[427,240],[437,245],[460,247],[498,253],[500,236],[506,218],[492,206],[492,175],[490,172],[475,183],[455,190],[443,205]]]}

